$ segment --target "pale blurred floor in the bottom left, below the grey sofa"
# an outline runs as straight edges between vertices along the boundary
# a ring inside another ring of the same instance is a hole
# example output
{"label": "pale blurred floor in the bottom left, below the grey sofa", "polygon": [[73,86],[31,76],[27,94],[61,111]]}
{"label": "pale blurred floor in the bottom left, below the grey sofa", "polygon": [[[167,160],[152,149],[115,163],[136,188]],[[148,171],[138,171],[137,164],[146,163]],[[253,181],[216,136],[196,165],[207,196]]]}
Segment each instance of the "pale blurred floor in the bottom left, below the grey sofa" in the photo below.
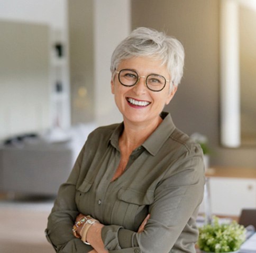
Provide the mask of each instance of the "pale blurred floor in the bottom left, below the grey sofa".
{"label": "pale blurred floor in the bottom left, below the grey sofa", "polygon": [[44,236],[52,205],[53,199],[0,198],[0,252],[54,253]]}

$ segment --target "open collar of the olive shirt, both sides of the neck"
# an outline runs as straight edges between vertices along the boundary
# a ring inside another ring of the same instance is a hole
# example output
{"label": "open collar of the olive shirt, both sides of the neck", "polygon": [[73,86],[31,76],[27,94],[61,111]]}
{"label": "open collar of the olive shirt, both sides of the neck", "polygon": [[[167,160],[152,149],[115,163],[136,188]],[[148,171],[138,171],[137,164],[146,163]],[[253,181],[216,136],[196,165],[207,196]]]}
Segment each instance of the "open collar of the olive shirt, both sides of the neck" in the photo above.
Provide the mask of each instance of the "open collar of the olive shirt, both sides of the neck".
{"label": "open collar of the olive shirt, both sides of the neck", "polygon": [[[171,133],[176,128],[175,124],[171,119],[170,113],[162,112],[160,116],[163,121],[158,126],[158,128],[150,135],[150,137],[142,144],[142,147],[144,147],[151,155],[157,154],[163,143],[170,137]],[[123,132],[123,129],[124,123],[122,122],[117,125],[116,129],[111,135],[111,138],[109,139],[109,142],[117,150],[119,150],[118,139]]]}

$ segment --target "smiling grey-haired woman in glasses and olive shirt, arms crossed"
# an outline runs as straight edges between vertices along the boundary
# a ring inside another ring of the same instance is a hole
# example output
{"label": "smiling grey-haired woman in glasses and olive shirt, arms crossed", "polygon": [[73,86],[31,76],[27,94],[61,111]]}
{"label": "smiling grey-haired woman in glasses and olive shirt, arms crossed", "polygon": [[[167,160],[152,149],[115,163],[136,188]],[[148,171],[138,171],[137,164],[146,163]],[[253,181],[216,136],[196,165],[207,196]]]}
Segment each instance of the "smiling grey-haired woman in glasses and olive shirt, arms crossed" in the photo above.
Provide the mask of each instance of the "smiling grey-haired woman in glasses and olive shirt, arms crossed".
{"label": "smiling grey-haired woman in glasses and olive shirt, arms crossed", "polygon": [[89,134],[45,230],[57,252],[195,252],[202,150],[163,112],[184,50],[140,27],[118,45],[111,90],[123,122]]}

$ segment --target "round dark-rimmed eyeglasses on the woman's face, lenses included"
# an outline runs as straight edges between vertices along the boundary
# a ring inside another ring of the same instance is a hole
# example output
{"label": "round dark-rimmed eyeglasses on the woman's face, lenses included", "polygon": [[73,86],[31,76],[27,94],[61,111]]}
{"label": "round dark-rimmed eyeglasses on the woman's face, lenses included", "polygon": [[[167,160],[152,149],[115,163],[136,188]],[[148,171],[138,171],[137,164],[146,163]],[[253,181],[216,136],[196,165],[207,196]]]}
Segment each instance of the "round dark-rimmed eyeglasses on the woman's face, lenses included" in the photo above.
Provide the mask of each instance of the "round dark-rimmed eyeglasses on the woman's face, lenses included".
{"label": "round dark-rimmed eyeglasses on the woman's face, lenses included", "polygon": [[118,74],[119,82],[128,87],[137,84],[141,77],[145,78],[145,83],[151,91],[161,91],[166,86],[166,82],[170,82],[170,80],[166,80],[164,76],[158,74],[143,76],[134,70],[128,69],[116,71],[116,73]]}

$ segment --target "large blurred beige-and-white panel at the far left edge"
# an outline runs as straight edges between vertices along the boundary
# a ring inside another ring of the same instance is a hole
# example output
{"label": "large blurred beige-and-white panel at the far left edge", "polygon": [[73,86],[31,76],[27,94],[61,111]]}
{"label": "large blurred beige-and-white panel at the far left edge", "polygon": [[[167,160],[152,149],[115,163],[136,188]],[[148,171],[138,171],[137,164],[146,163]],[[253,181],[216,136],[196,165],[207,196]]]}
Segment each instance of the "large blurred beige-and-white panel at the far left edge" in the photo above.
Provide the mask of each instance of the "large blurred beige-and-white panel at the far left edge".
{"label": "large blurred beige-and-white panel at the far left edge", "polygon": [[0,139],[50,122],[49,27],[0,21]]}

